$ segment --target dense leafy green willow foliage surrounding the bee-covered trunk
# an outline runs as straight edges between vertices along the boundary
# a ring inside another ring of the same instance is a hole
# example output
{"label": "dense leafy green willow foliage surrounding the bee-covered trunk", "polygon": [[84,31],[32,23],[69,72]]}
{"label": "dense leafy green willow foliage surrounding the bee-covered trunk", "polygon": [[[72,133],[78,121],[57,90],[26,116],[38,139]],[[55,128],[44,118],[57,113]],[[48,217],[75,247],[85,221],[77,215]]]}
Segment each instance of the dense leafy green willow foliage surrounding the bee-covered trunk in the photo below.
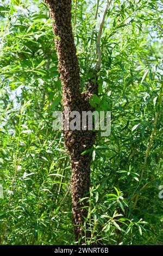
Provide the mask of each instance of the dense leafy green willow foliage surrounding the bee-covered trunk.
{"label": "dense leafy green willow foliage surrounding the bee-covered trunk", "polygon": [[[99,1],[97,19],[98,1],[77,1],[77,11],[75,2],[84,90],[106,1]],[[87,245],[163,242],[161,7],[115,0],[106,14],[92,104],[111,111],[111,135],[99,132],[91,150]],[[49,10],[42,1],[2,1],[0,19],[0,243],[73,245],[70,159],[62,132],[52,129],[53,111],[62,106]]]}

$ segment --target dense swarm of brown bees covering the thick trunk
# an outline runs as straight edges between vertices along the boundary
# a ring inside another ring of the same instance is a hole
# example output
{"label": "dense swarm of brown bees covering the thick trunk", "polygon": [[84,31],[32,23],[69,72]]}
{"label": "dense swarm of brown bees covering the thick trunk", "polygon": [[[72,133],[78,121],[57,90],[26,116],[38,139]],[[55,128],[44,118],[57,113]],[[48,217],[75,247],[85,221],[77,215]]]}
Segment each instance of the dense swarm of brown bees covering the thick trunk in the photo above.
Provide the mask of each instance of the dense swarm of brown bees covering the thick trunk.
{"label": "dense swarm of brown bees covering the thick trunk", "polygon": [[[64,109],[67,107],[72,111],[92,111],[89,104],[89,97],[98,93],[96,83],[89,82],[87,84],[87,92],[80,93],[80,76],[79,64],[76,56],[76,46],[71,25],[71,0],[45,0],[54,20],[53,31],[55,36],[55,47],[57,49],[62,83],[62,105]],[[93,77],[94,78],[94,77]],[[90,188],[90,164],[91,157],[89,155],[81,155],[81,153],[92,147],[95,143],[96,133],[93,131],[71,131],[64,130],[65,148],[71,158],[71,193],[72,193],[72,209],[75,226],[75,235],[78,240],[82,236],[84,217],[87,215],[85,202],[79,202],[81,198],[89,192]]]}

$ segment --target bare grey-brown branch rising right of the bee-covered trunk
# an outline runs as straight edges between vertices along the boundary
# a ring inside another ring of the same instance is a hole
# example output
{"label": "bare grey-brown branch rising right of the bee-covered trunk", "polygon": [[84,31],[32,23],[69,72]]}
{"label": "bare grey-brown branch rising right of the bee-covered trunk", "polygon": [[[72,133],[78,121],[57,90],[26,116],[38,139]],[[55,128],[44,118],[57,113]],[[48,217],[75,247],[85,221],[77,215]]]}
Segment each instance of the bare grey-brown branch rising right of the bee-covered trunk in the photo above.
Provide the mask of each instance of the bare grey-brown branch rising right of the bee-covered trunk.
{"label": "bare grey-brown branch rising right of the bee-covered trunk", "polygon": [[102,31],[103,31],[103,26],[104,26],[104,21],[105,21],[105,15],[106,15],[106,12],[111,4],[111,1],[112,0],[110,0],[110,1],[107,0],[107,5],[106,5],[106,8],[103,13],[103,18],[102,18],[101,24],[99,26],[99,31],[98,31],[98,36],[97,36],[97,48],[96,48],[97,55],[98,55],[98,61],[97,61],[96,67],[95,67],[96,72],[99,72],[99,70],[101,69],[101,48],[100,48],[101,36],[102,36]]}

